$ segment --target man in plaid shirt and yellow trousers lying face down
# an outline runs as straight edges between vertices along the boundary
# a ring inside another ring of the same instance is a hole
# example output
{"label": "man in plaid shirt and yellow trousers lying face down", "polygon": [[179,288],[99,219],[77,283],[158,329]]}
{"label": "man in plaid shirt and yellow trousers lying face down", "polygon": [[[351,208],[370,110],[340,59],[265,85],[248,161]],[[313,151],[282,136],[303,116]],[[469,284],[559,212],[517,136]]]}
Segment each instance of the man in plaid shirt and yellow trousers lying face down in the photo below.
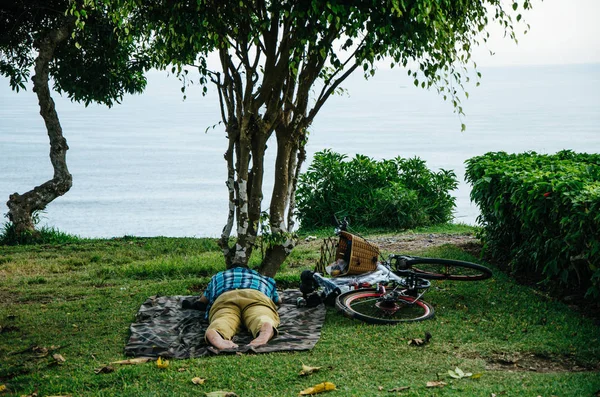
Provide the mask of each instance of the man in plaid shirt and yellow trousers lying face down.
{"label": "man in plaid shirt and yellow trousers lying face down", "polygon": [[275,280],[245,265],[234,264],[215,274],[199,302],[207,305],[209,326],[205,339],[219,350],[238,347],[231,339],[242,325],[254,337],[249,346],[267,344],[277,333],[279,314],[275,304],[280,304],[281,298]]}

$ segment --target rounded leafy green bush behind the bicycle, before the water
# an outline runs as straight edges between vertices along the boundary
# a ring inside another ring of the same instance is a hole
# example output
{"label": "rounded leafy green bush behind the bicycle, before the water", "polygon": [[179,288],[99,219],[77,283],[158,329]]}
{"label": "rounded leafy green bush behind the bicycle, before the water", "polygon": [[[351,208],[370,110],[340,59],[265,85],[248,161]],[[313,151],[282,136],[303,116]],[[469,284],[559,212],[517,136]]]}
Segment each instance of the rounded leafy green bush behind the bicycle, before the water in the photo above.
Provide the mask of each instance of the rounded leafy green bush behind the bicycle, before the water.
{"label": "rounded leafy green bush behind the bicycle, before the water", "polygon": [[347,216],[355,227],[405,229],[453,219],[453,171],[430,171],[419,158],[375,161],[324,150],[300,175],[296,192],[301,228],[331,226]]}

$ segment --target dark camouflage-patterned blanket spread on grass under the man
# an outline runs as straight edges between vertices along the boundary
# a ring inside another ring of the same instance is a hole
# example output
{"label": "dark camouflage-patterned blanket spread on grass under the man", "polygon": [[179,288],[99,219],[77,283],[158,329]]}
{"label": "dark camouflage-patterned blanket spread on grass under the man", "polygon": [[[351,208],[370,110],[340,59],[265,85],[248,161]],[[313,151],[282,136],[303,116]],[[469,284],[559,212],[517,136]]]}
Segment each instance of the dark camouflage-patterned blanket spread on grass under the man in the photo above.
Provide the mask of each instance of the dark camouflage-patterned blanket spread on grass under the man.
{"label": "dark camouflage-patterned blanket spread on grass under the man", "polygon": [[252,335],[243,331],[233,341],[237,349],[217,350],[204,341],[208,321],[204,311],[182,309],[181,302],[194,301],[192,296],[152,296],[140,307],[136,322],[131,324],[131,336],[125,354],[134,357],[192,358],[224,353],[268,353],[274,351],[310,350],[321,336],[325,321],[325,307],[296,307],[302,296],[298,290],[280,293],[283,303],[279,307],[281,324],[279,335],[267,345],[246,346]]}

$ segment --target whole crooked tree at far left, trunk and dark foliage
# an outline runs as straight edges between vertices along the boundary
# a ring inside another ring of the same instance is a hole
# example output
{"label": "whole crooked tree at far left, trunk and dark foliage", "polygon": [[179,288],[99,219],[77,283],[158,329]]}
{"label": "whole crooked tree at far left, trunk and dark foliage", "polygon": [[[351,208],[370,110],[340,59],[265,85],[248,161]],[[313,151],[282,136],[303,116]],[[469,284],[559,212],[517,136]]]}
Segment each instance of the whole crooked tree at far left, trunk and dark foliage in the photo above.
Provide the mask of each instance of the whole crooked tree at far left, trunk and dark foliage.
{"label": "whole crooked tree at far left, trunk and dark foliage", "polygon": [[[81,3],[79,3],[81,4]],[[5,0],[0,8],[0,75],[13,90],[26,89],[31,76],[40,115],[50,139],[53,178],[24,194],[14,193],[7,214],[17,236],[34,234],[32,214],[43,210],[72,185],[69,149],[52,100],[50,79],[59,93],[88,105],[112,106],[125,93],[141,92],[150,67],[131,37],[118,37],[107,9],[73,10],[72,0]],[[72,12],[70,12],[72,11]],[[80,16],[86,29],[76,29]]]}

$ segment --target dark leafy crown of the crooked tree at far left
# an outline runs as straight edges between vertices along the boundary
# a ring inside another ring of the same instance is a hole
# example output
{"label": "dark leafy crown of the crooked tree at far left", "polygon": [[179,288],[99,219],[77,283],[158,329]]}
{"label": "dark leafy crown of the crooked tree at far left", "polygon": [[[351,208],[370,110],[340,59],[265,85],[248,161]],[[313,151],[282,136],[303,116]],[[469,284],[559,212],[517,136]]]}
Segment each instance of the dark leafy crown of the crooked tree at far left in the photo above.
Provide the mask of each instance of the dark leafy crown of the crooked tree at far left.
{"label": "dark leafy crown of the crooked tree at far left", "polygon": [[112,106],[145,88],[149,58],[133,40],[118,37],[104,7],[81,10],[86,29],[68,13],[72,0],[6,0],[0,8],[0,74],[14,90],[25,89],[42,38],[66,33],[49,64],[54,88],[75,101]]}

